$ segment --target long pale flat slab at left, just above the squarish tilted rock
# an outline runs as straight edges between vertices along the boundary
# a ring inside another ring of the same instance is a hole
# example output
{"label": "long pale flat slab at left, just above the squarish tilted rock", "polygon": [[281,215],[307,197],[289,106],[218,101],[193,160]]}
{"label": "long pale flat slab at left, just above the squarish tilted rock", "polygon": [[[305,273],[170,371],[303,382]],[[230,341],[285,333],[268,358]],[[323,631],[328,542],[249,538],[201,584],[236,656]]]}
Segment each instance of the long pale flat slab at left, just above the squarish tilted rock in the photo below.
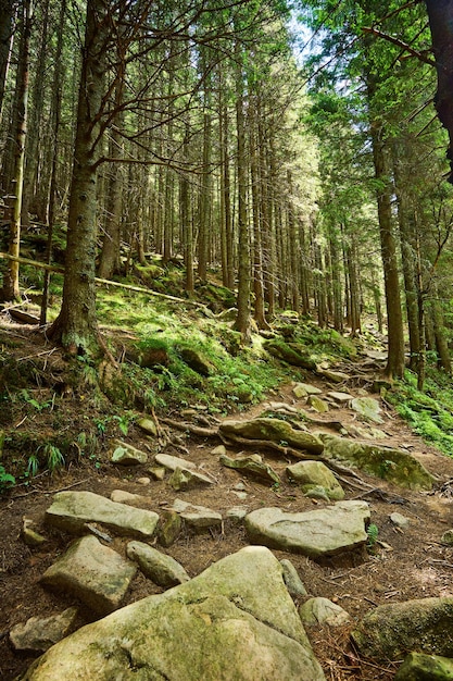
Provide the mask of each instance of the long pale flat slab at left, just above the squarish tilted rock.
{"label": "long pale flat slab at left, just above the squarish tilted rock", "polygon": [[99,522],[122,535],[150,538],[158,513],[126,504],[116,504],[92,492],[59,492],[46,511],[46,522],[59,530],[81,534],[85,524]]}

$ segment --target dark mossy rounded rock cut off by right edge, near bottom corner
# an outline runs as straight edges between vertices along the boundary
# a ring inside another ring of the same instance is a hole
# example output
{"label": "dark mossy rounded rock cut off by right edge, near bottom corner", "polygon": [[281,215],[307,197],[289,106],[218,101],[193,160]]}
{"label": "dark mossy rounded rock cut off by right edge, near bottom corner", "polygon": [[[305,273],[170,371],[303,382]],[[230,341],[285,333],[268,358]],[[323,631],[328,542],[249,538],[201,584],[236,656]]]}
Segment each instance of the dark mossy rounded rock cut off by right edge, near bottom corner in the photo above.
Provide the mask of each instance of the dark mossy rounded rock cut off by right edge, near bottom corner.
{"label": "dark mossy rounded rock cut off by right edge, near bottom corner", "polygon": [[453,657],[453,597],[381,605],[352,636],[367,657],[400,659],[407,651]]}

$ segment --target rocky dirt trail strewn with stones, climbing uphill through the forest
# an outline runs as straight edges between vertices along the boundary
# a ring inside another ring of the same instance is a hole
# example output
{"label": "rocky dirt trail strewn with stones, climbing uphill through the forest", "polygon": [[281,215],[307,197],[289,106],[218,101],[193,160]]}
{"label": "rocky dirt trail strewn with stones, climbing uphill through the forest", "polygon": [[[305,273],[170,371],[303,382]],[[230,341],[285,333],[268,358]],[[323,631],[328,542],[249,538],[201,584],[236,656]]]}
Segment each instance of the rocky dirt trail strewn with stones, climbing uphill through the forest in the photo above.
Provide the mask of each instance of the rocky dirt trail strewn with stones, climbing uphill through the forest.
{"label": "rocky dirt trail strewn with stones, climbing uphill through the forest", "polygon": [[[453,460],[356,381],[147,417],[109,456],[0,502],[5,681],[74,631],[24,678],[393,679],[411,651],[453,657]],[[393,617],[438,629],[383,648]]]}

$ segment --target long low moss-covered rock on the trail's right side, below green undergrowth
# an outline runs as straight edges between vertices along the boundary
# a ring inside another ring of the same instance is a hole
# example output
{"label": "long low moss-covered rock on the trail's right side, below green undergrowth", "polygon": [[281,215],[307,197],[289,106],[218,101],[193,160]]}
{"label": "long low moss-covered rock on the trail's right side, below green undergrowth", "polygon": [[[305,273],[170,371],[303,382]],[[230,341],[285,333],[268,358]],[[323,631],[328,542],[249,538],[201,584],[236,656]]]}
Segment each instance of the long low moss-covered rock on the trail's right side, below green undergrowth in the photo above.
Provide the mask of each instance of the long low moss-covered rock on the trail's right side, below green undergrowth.
{"label": "long low moss-covered rock on the trail's right side, below green undergrowth", "polygon": [[324,456],[352,466],[408,490],[431,490],[433,476],[407,451],[351,442],[344,437],[323,436]]}

